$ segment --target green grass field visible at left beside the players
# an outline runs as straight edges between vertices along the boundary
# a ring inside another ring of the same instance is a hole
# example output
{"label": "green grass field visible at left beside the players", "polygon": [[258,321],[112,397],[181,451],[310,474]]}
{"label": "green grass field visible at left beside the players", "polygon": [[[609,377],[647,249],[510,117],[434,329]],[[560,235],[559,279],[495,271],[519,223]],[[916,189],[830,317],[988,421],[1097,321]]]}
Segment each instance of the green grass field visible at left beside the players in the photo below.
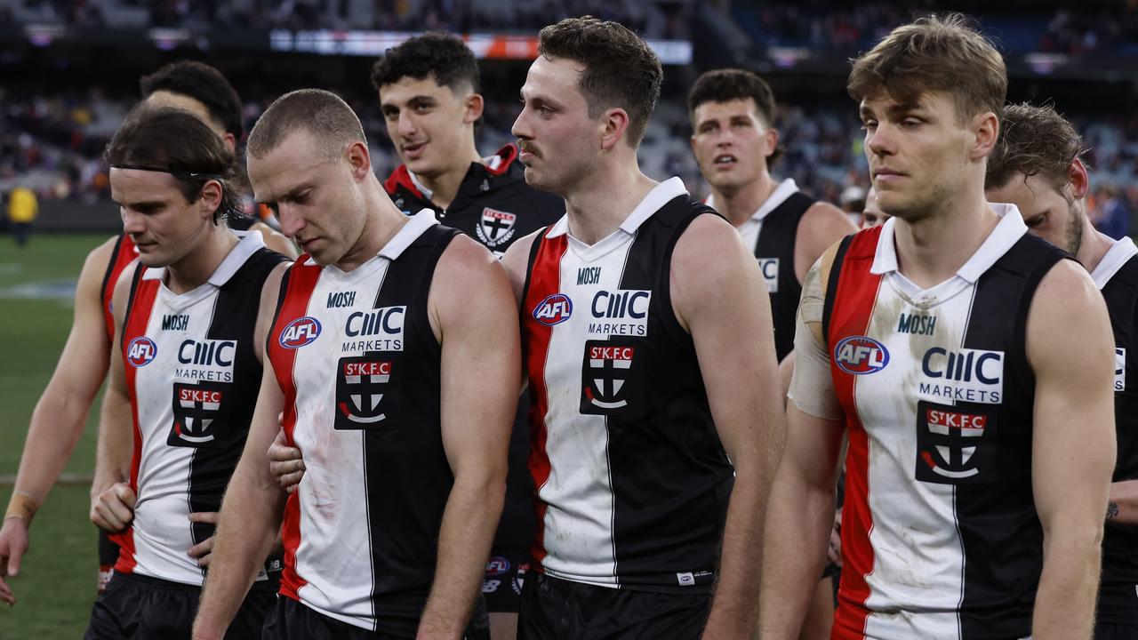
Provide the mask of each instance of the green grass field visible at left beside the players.
{"label": "green grass field visible at left beside the players", "polygon": [[[32,409],[55,370],[72,321],[71,289],[86,253],[107,236],[35,236],[25,249],[0,236],[0,476],[19,465]],[[92,411],[92,416],[97,415]],[[67,474],[94,468],[96,420],[88,419]],[[96,585],[96,531],[88,485],[58,485],[32,525],[32,549],[13,581],[19,602],[0,605],[0,639],[75,639]],[[7,504],[11,484],[0,484]]]}

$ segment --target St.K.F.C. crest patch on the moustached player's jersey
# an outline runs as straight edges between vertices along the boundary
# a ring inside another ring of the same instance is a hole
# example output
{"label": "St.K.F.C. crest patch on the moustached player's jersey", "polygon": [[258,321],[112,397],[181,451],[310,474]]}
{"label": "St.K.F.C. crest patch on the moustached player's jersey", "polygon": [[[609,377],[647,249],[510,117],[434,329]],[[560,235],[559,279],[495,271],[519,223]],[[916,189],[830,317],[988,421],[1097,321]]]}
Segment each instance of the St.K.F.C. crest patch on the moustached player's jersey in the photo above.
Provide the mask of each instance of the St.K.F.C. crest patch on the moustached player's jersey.
{"label": "St.K.F.C. crest patch on the moustached player's jersey", "polygon": [[644,345],[634,339],[586,340],[580,412],[640,416],[644,412]]}

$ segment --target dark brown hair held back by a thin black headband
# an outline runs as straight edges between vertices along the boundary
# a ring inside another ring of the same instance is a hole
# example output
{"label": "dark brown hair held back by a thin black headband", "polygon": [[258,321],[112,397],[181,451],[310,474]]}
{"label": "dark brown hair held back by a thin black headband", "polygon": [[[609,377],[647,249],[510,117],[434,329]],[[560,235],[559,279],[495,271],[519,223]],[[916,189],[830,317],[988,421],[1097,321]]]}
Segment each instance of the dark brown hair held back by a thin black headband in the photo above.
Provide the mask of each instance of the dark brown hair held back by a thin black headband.
{"label": "dark brown hair held back by a thin black headband", "polygon": [[240,178],[233,153],[209,125],[189,112],[135,106],[107,145],[104,158],[113,167],[170,173],[187,203],[196,203],[209,180],[222,187],[221,215],[241,215]]}

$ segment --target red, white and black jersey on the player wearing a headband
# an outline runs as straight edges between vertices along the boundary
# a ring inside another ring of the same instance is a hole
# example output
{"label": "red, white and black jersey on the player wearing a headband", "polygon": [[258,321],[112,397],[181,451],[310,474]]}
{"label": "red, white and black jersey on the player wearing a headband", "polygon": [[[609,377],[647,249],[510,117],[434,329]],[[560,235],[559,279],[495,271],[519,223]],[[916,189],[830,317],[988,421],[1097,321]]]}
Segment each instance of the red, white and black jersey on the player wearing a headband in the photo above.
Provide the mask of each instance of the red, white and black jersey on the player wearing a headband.
{"label": "red, white and black jersey on the player wearing a headband", "polygon": [[122,547],[116,572],[201,584],[204,571],[187,551],[214,526],[188,516],[221,508],[245,448],[261,387],[253,345],[261,292],[283,261],[257,233],[240,240],[207,282],[183,294],[163,282],[165,269],[134,271],[119,346],[138,502],[130,528],[112,536]]}

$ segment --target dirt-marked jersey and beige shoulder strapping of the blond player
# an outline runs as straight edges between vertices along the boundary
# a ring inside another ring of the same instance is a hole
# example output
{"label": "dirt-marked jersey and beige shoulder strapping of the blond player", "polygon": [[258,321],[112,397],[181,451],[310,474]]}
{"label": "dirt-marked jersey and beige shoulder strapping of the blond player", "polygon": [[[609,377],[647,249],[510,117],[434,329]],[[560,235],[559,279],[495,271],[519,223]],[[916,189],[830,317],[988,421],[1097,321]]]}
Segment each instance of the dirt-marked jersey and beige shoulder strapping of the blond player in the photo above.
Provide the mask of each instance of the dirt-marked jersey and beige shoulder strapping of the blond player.
{"label": "dirt-marked jersey and beige shoulder strapping of the blond player", "polygon": [[[932,288],[898,271],[896,219],[807,279],[790,396],[849,437],[835,640],[1031,635],[1028,310],[1066,254],[991,206],[995,230]],[[806,326],[819,319],[824,344]]]}

